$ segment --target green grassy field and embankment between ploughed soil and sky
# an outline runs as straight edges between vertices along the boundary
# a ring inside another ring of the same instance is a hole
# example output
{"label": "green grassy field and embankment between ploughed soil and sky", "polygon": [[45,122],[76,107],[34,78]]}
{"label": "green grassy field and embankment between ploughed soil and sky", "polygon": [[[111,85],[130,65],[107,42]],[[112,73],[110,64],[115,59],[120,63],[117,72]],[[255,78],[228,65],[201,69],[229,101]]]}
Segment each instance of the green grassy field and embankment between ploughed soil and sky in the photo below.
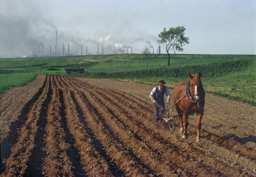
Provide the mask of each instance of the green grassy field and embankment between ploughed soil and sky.
{"label": "green grassy field and embankment between ploughed soil and sky", "polygon": [[88,55],[44,58],[0,59],[0,68],[23,69],[0,71],[0,93],[33,80],[37,74],[67,75],[64,68],[84,68],[85,73],[70,76],[111,78],[123,81],[156,84],[167,81],[173,88],[187,81],[188,73],[202,73],[207,93],[242,101],[256,106],[255,55],[176,54],[167,66],[167,55],[145,59],[142,54]]}

